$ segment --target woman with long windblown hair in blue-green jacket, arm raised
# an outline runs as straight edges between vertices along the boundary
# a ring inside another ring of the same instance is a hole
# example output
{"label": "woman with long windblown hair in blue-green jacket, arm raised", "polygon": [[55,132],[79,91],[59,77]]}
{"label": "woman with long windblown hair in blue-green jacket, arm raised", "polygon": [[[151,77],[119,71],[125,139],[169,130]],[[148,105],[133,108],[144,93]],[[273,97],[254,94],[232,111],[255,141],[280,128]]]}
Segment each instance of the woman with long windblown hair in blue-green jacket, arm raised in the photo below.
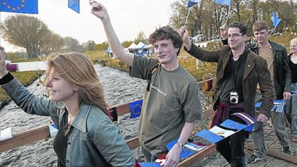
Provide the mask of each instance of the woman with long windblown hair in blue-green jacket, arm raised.
{"label": "woman with long windblown hair in blue-green jacket, arm raised", "polygon": [[108,117],[103,88],[90,60],[81,53],[47,58],[49,98],[36,97],[5,68],[0,47],[0,85],[28,114],[51,116],[59,127],[53,148],[58,166],[135,165],[130,149]]}

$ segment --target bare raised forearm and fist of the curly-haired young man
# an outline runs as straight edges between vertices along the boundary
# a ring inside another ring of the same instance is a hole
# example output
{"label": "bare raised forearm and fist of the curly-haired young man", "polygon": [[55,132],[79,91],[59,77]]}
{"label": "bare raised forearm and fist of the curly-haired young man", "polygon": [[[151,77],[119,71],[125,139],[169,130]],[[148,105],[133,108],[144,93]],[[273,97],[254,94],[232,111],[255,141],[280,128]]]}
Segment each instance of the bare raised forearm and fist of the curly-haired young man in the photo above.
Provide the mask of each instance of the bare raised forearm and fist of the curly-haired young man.
{"label": "bare raised forearm and fist of the curly-haired young man", "polygon": [[95,16],[100,18],[100,20],[103,23],[105,34],[106,34],[108,43],[110,45],[110,48],[113,51],[113,55],[116,58],[120,59],[121,61],[132,66],[134,55],[132,53],[125,51],[123,46],[121,45],[110,23],[110,19],[106,8],[102,4],[99,4],[94,0],[90,0],[89,2],[92,7],[91,13],[93,13]]}

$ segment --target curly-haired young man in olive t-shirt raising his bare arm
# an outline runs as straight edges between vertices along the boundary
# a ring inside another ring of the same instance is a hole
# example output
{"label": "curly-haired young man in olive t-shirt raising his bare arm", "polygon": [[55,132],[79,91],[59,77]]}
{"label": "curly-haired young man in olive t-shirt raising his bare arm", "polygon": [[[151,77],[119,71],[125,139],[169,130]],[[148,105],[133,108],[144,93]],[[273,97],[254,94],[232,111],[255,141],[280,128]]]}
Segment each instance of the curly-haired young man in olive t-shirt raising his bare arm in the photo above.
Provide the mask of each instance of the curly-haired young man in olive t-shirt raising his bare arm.
{"label": "curly-haired young man in olive t-shirt raising his bare arm", "polygon": [[[107,10],[102,4],[90,1],[92,13],[101,19],[114,56],[131,66],[130,75],[150,79],[151,67],[160,63],[151,75],[149,91],[144,95],[140,116],[139,141],[148,161],[166,154],[164,167],[176,166],[183,145],[191,135],[195,120],[202,118],[195,79],[178,64],[181,36],[169,26],[151,34],[157,59],[147,59],[124,51],[116,37]],[[168,152],[166,144],[178,138]]]}

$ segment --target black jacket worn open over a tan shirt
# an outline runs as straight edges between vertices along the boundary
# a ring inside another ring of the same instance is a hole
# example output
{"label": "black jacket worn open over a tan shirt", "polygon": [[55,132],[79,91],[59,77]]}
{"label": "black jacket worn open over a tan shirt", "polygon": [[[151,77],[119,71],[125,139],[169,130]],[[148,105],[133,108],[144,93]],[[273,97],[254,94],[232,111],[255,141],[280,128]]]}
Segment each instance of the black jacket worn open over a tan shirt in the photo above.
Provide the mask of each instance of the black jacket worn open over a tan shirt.
{"label": "black jacket worn open over a tan shirt", "polygon": [[[224,45],[228,45],[228,39],[222,40]],[[287,61],[287,50],[285,46],[269,41],[274,55],[274,89],[277,99],[283,99],[284,92],[290,92],[291,71]],[[258,43],[248,45],[249,49],[259,55]]]}

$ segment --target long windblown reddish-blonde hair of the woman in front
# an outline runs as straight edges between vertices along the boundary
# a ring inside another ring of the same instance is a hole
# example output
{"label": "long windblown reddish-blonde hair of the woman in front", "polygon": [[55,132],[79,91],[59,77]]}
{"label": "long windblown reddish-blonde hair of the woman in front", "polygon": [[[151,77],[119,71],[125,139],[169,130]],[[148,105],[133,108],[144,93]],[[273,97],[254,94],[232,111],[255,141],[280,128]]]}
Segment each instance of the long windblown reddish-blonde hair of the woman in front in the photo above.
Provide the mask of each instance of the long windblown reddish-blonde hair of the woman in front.
{"label": "long windblown reddish-blonde hair of the woman in front", "polygon": [[108,115],[103,87],[87,56],[78,52],[51,53],[47,61],[45,82],[54,69],[70,84],[77,86],[80,102],[95,105]]}

